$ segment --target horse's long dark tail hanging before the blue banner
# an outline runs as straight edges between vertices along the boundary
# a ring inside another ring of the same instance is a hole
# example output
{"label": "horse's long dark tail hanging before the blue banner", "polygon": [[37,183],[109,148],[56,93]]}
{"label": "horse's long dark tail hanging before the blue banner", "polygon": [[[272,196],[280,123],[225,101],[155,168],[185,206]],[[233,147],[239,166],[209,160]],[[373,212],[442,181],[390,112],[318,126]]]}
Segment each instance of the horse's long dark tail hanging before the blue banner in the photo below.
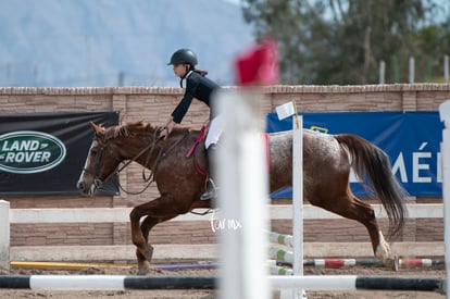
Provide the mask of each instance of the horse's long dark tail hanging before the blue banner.
{"label": "horse's long dark tail hanging before the blue banner", "polygon": [[[361,137],[348,134],[335,137],[349,150],[352,157],[352,167],[359,178],[364,182],[364,187],[374,191],[382,201],[389,219],[388,237],[393,237],[402,231],[404,225],[407,192],[392,174],[388,155],[380,148]],[[367,180],[372,186],[365,184]]]}

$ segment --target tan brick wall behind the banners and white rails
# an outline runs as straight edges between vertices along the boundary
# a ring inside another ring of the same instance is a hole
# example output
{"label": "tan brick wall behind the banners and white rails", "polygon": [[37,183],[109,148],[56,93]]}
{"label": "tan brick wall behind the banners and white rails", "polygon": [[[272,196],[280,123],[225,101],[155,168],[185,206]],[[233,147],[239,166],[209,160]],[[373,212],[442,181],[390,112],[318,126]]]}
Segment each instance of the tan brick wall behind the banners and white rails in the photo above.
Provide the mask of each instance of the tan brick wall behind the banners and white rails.
{"label": "tan brick wall behind the banners and white rails", "polygon": [[[0,88],[0,113],[35,113],[53,111],[121,112],[123,122],[148,121],[164,124],[182,97],[179,88],[103,87],[103,88]],[[373,85],[373,86],[268,86],[261,115],[275,107],[295,100],[301,112],[336,111],[436,111],[450,99],[449,84]],[[183,125],[200,128],[208,120],[208,109],[192,103]],[[141,166],[132,165],[121,174],[129,190],[143,187]],[[132,207],[158,197],[151,187],[139,196],[118,197],[37,197],[5,198],[11,208],[99,208]],[[412,198],[417,202],[440,202],[440,198]],[[386,221],[380,221],[386,227]],[[290,233],[290,221],[273,221],[274,231]],[[442,220],[408,220],[401,239],[442,240]],[[384,229],[386,231],[386,228]],[[311,220],[304,223],[305,241],[368,241],[365,228],[349,220]],[[32,245],[123,245],[130,244],[128,224],[13,224],[12,246]],[[162,223],[150,235],[154,244],[212,242],[215,235],[209,222]]]}

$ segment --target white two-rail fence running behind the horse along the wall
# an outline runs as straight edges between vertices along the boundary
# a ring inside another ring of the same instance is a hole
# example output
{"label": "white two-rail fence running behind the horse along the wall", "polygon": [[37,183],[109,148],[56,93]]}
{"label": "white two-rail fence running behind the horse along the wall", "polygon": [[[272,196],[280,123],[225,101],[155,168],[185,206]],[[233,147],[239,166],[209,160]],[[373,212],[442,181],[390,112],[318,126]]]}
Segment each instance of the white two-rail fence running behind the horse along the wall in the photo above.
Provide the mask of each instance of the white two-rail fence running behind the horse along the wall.
{"label": "white two-rail fence running behind the horse along the wall", "polygon": [[[386,217],[380,204],[373,205],[377,217]],[[408,204],[411,219],[441,219],[442,204]],[[129,221],[130,208],[86,208],[86,209],[9,209],[8,201],[0,200],[0,266],[8,269],[10,260],[16,261],[114,261],[135,260],[134,246],[26,246],[10,249],[11,224],[43,224],[43,223],[125,223]],[[342,219],[323,209],[304,204],[303,216],[308,220]],[[216,213],[215,219],[222,219]],[[9,220],[8,220],[9,219]],[[292,205],[270,205],[271,220],[292,219]],[[172,221],[207,221],[211,216],[195,214],[179,215]],[[358,224],[355,224],[358,225]],[[8,228],[7,228],[8,227]],[[8,249],[7,249],[8,248]],[[373,257],[370,242],[305,242],[304,257]],[[443,242],[393,242],[392,250],[405,257],[443,257]],[[11,252],[11,253],[10,253]],[[10,256],[8,258],[8,256]],[[155,245],[154,259],[199,259],[209,260],[217,258],[216,245]]]}

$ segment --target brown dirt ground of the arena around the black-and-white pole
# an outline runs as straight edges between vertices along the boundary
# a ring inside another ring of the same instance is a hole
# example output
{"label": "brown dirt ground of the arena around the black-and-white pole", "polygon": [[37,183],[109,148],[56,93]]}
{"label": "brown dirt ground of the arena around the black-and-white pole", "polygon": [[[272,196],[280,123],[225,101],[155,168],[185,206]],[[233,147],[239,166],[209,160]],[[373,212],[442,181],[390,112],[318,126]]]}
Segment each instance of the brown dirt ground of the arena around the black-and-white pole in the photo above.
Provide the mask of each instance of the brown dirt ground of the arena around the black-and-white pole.
{"label": "brown dirt ground of the arena around the black-and-white pole", "polygon": [[[118,269],[86,269],[77,271],[54,271],[54,270],[32,270],[32,269],[12,269],[11,271],[1,271],[1,275],[136,275],[135,267],[118,267]],[[161,271],[153,270],[149,275],[167,275],[167,276],[211,276],[215,275],[214,269],[201,270],[182,270],[182,271]],[[421,269],[401,269],[398,272],[382,267],[366,267],[366,266],[349,266],[345,269],[320,269],[320,267],[304,267],[304,275],[374,275],[374,276],[411,276],[411,277],[428,277],[428,278],[445,278],[443,267],[434,267],[428,270]],[[396,298],[396,299],[412,299],[412,298],[445,298],[438,292],[425,291],[308,291],[308,298]],[[278,298],[279,294],[273,294],[273,298]],[[212,299],[217,298],[214,290],[29,290],[29,289],[0,289],[0,298],[64,298],[64,299],[80,299],[80,298],[201,298]]]}

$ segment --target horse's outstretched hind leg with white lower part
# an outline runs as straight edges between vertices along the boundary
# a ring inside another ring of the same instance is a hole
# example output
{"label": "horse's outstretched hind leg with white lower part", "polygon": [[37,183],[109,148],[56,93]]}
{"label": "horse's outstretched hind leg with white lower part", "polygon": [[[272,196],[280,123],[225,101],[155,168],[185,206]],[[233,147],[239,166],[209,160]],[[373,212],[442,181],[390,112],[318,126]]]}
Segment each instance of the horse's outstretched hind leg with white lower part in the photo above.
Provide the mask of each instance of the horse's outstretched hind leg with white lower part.
{"label": "horse's outstretched hind leg with white lower part", "polygon": [[330,212],[339,214],[346,219],[355,220],[363,224],[371,237],[372,249],[376,258],[380,259],[385,266],[393,267],[393,257],[389,245],[386,242],[378,222],[375,217],[375,212],[371,204],[365,203],[357,197],[341,197],[337,200],[329,201],[325,205],[320,205]]}

